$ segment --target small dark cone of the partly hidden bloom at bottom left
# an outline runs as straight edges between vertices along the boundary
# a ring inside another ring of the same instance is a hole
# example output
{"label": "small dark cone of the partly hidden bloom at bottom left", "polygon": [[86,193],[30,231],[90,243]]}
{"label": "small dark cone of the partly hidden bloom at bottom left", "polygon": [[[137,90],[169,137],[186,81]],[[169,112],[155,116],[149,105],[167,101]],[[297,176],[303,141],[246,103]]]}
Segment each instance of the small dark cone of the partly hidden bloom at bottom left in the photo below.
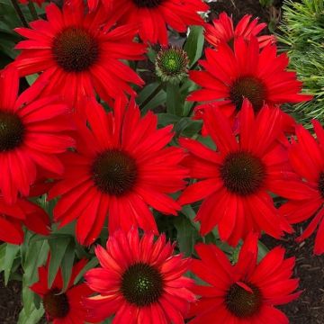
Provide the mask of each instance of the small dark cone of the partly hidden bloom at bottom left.
{"label": "small dark cone of the partly hidden bloom at bottom left", "polygon": [[66,293],[60,293],[58,289],[53,289],[43,298],[43,305],[50,319],[65,318],[70,309]]}

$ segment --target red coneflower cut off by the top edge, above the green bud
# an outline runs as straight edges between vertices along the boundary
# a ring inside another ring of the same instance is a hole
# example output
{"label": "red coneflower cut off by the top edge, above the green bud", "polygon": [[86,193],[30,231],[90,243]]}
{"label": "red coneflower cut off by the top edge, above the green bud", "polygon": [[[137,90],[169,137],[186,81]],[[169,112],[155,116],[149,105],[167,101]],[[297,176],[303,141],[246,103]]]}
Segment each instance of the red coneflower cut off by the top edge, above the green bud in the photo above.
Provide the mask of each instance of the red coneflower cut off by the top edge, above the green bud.
{"label": "red coneflower cut off by the top edge, above the green bud", "polygon": [[139,24],[139,36],[145,42],[167,45],[166,25],[185,32],[190,25],[202,25],[198,12],[209,6],[202,0],[103,0],[111,3],[120,23]]}

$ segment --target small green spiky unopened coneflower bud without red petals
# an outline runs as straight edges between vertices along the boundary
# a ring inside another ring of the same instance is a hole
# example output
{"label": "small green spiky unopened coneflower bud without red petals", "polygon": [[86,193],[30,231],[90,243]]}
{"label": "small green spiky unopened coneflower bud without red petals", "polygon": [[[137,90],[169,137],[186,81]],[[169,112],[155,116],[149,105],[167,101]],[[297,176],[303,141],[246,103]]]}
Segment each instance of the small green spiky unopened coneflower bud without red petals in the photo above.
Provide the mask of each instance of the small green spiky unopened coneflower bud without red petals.
{"label": "small green spiky unopened coneflower bud without red petals", "polygon": [[183,49],[160,49],[155,66],[157,76],[164,82],[178,84],[188,75],[189,58]]}

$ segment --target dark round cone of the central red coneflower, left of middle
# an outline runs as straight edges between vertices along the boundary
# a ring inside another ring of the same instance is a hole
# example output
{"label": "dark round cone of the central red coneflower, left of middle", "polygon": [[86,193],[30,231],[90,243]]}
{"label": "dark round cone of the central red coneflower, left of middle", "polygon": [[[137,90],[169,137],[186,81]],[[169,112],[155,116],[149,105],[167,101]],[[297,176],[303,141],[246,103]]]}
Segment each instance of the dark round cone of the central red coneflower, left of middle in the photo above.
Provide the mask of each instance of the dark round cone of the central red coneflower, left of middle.
{"label": "dark round cone of the central red coneflower, left of middle", "polygon": [[135,184],[138,170],[133,157],[121,150],[110,149],[96,157],[92,174],[94,184],[103,193],[122,195]]}

